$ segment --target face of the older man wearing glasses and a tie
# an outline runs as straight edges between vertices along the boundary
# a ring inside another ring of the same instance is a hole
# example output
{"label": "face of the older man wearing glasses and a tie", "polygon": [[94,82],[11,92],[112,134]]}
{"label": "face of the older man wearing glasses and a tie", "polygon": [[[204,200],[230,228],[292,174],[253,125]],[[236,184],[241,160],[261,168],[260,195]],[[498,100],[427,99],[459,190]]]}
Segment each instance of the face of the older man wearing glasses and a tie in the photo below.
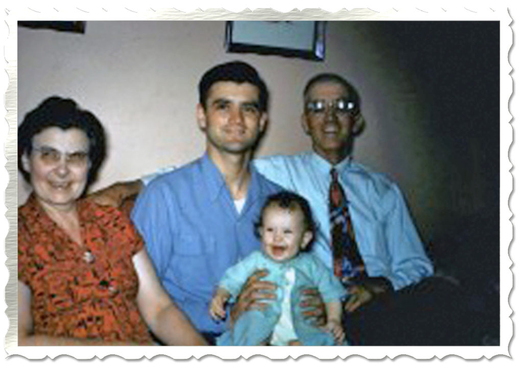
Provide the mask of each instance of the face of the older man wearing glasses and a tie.
{"label": "face of the older man wearing glasses and a tie", "polygon": [[305,96],[305,104],[323,101],[325,108],[315,111],[305,108],[302,126],[312,139],[312,148],[331,163],[337,163],[349,153],[354,115],[336,108],[336,102],[347,98],[343,85],[319,82]]}

